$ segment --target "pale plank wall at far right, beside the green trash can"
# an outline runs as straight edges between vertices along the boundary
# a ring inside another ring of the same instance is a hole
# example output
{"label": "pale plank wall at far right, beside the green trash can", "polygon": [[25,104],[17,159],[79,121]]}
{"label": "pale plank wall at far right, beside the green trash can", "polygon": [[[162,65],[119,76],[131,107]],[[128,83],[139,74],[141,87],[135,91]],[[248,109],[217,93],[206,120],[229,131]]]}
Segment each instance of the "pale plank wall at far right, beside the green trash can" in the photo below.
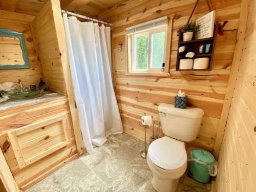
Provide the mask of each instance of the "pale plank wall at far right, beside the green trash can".
{"label": "pale plank wall at far right, beside the green trash can", "polygon": [[249,1],[244,45],[219,155],[218,192],[256,191],[256,2]]}

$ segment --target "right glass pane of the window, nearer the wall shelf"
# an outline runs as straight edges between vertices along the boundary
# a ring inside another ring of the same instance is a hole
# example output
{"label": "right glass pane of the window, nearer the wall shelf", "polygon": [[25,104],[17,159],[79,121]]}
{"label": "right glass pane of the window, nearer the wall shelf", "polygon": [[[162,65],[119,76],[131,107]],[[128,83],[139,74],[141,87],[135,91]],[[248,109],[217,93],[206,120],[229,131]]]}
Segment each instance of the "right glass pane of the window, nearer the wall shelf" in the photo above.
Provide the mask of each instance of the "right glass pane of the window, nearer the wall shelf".
{"label": "right glass pane of the window, nearer the wall shelf", "polygon": [[154,33],[151,36],[151,65],[153,69],[159,69],[164,62],[165,32]]}

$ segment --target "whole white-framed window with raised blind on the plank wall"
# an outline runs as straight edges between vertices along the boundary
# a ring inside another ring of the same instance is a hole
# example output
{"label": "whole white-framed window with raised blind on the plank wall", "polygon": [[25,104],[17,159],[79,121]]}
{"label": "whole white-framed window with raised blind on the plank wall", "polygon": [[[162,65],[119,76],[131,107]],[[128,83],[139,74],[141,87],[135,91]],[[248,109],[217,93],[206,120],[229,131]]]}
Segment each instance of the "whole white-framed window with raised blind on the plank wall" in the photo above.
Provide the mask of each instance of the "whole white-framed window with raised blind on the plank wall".
{"label": "whole white-framed window with raised blind on the plank wall", "polygon": [[167,35],[167,30],[167,17],[126,29],[129,73],[168,72],[170,43],[167,42],[170,35]]}

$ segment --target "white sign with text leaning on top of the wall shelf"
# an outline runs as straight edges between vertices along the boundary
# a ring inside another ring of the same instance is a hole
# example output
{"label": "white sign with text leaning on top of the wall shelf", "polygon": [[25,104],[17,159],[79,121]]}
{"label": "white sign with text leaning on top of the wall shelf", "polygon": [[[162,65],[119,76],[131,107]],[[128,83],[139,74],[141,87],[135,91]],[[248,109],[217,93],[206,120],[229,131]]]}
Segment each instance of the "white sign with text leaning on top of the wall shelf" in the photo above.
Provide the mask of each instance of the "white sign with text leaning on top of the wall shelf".
{"label": "white sign with text leaning on top of the wall shelf", "polygon": [[208,38],[214,36],[215,11],[211,11],[203,17],[197,19],[196,26],[199,26],[196,32],[196,39]]}

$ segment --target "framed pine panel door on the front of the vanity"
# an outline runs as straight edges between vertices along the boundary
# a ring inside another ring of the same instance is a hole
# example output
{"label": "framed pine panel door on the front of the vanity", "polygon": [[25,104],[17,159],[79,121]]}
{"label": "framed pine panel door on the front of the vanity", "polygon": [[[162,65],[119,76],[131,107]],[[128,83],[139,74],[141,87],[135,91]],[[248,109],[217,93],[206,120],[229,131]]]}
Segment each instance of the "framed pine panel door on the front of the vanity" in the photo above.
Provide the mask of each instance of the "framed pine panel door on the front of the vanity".
{"label": "framed pine panel door on the front of the vanity", "polygon": [[60,114],[8,132],[19,168],[69,144],[67,118],[68,114]]}

